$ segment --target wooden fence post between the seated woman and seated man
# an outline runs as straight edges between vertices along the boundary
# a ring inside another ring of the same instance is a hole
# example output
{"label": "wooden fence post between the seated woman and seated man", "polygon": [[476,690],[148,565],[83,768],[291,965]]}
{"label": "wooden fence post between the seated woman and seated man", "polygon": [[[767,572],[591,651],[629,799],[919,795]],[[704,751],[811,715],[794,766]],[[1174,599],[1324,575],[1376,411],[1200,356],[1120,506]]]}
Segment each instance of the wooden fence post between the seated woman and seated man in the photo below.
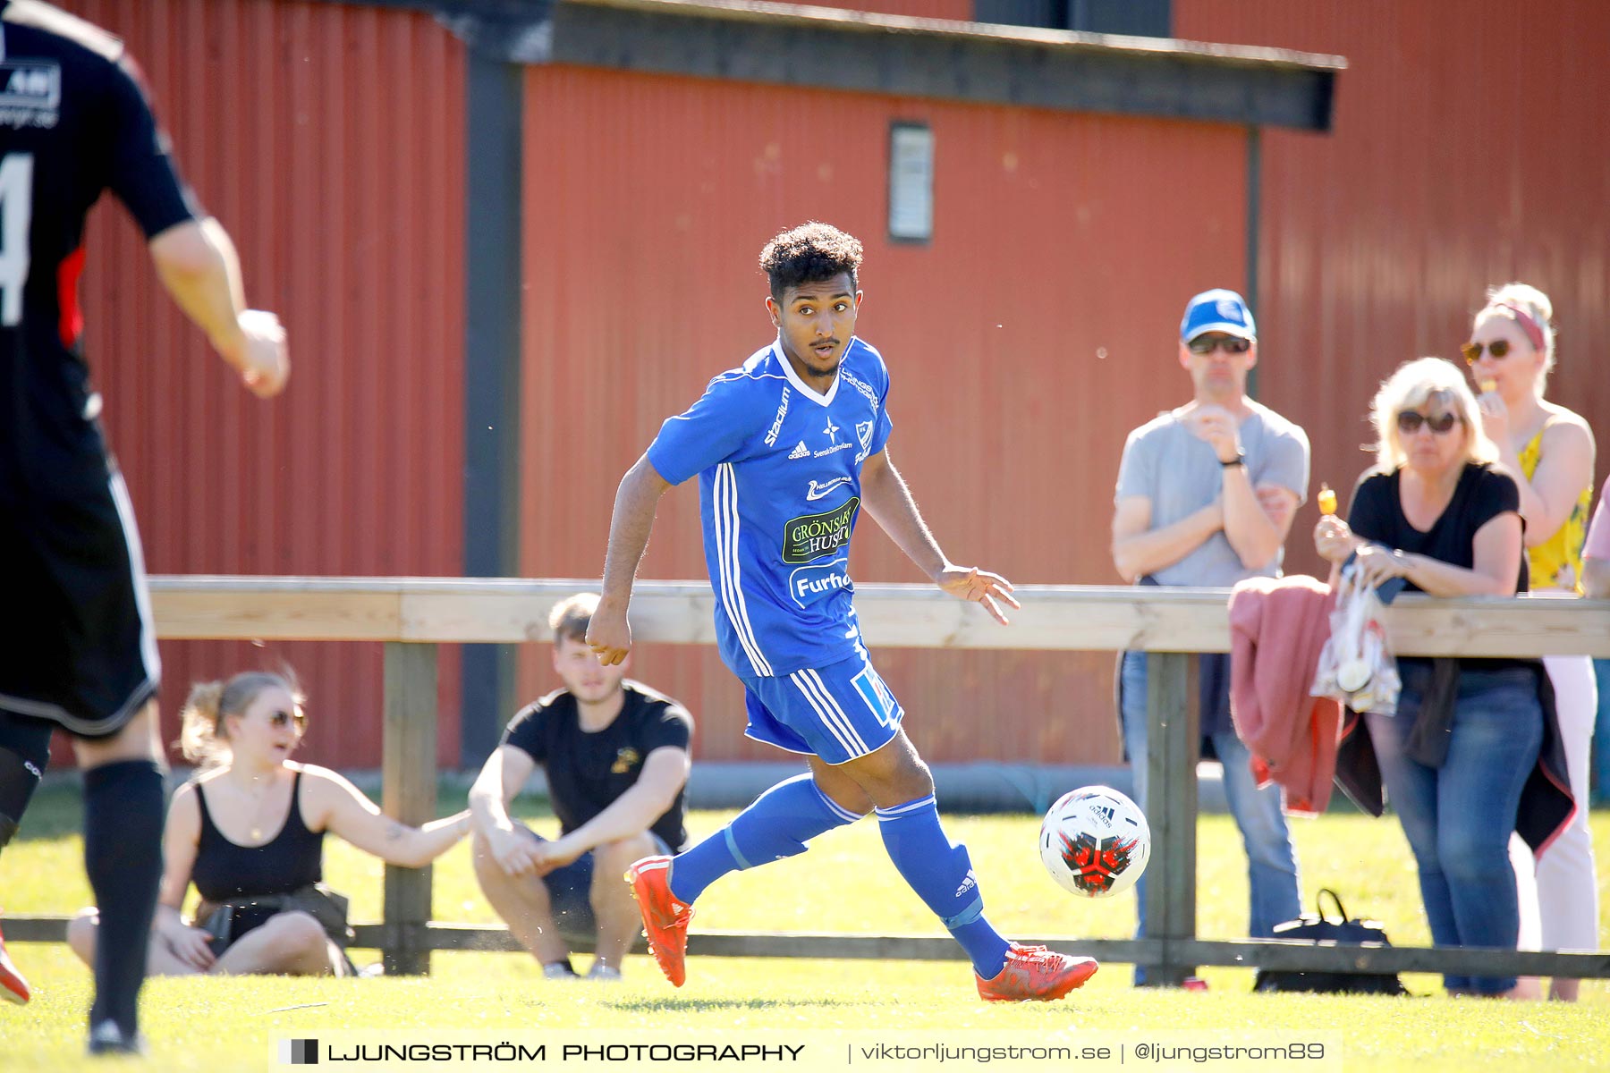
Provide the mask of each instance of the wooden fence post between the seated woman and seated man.
{"label": "wooden fence post between the seated woman and seated man", "polygon": [[[386,642],[382,809],[419,827],[436,817],[436,645]],[[382,948],[388,976],[430,973],[430,865],[386,865]]]}

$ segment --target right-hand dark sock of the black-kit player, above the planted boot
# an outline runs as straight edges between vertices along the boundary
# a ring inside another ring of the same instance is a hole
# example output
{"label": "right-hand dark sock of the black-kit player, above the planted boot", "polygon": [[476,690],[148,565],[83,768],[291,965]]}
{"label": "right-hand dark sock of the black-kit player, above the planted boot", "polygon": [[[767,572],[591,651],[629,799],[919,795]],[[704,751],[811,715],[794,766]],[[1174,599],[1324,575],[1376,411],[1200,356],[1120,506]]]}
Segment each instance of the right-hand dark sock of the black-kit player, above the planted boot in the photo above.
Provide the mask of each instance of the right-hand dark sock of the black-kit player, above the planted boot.
{"label": "right-hand dark sock of the black-kit player, above the planted boot", "polygon": [[163,878],[163,772],[151,761],[84,772],[84,869],[100,909],[90,1028],[111,1020],[134,1039]]}

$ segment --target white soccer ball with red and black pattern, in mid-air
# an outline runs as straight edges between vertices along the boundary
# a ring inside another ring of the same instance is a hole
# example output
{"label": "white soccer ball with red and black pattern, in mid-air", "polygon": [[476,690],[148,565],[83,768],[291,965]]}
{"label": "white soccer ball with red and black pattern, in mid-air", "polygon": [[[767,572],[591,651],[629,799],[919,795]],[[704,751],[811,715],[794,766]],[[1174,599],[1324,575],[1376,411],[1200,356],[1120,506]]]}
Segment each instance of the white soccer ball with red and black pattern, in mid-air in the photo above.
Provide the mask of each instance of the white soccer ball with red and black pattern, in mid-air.
{"label": "white soccer ball with red and black pattern, in mid-air", "polygon": [[1064,793],[1040,824],[1040,861],[1074,894],[1111,898],[1127,891],[1150,859],[1145,814],[1113,787]]}

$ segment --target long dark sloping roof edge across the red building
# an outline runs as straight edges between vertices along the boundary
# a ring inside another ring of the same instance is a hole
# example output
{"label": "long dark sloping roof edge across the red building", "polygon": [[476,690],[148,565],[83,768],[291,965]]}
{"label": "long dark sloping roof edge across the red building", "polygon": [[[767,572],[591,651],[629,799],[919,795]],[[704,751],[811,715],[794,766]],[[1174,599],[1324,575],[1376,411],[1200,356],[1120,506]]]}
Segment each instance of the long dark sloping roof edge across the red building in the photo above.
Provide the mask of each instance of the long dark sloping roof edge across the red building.
{"label": "long dark sloping roof edge across the red building", "polygon": [[[336,0],[348,2],[353,0]],[[356,0],[506,63],[1330,130],[1341,56],[773,3]]]}

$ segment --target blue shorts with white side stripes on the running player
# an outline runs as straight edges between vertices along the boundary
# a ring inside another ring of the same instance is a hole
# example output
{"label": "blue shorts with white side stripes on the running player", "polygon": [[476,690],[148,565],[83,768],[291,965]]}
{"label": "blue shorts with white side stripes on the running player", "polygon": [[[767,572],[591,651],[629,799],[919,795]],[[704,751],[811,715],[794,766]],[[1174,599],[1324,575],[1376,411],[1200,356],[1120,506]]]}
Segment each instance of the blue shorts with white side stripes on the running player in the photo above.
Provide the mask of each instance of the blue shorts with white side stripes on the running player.
{"label": "blue shorts with white side stripes on the running player", "polygon": [[863,655],[776,677],[745,677],[744,734],[842,764],[889,745],[905,709]]}

